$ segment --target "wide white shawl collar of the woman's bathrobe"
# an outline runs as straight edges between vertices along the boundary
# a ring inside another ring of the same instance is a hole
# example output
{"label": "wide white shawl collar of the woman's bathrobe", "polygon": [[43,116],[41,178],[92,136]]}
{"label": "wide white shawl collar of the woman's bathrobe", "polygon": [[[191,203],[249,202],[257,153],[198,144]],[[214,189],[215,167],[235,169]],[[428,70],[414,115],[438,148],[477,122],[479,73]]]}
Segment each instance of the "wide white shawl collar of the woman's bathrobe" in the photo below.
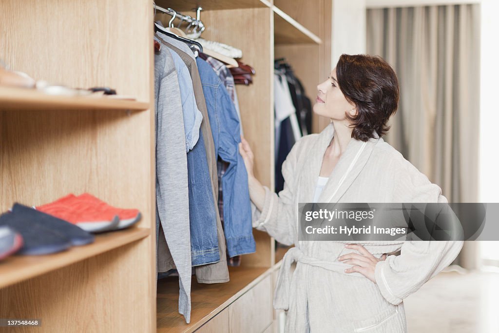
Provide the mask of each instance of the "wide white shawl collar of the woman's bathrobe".
{"label": "wide white shawl collar of the woman's bathrobe", "polygon": [[[313,201],[324,153],[333,136],[334,126],[331,122],[319,133],[315,149],[309,149],[305,152],[306,156],[302,160],[303,169],[299,182],[299,202],[307,203]],[[336,203],[345,194],[364,168],[376,144],[380,140],[383,141],[375,132],[374,136],[375,138],[371,138],[368,141],[360,141],[352,138],[348,142],[345,151],[342,153],[338,163],[336,163],[317,202]]]}

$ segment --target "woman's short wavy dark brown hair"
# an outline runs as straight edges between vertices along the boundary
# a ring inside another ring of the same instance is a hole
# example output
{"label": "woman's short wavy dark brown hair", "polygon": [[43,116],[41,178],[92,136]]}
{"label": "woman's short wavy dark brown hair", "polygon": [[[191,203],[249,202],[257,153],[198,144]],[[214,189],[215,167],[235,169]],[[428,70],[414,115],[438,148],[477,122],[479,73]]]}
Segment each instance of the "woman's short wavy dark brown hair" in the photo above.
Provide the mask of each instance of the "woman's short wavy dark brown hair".
{"label": "woman's short wavy dark brown hair", "polygon": [[346,115],[352,123],[352,137],[367,141],[374,137],[373,131],[384,135],[399,102],[399,85],[392,67],[379,56],[342,54],[336,76],[341,92],[357,108],[357,115]]}

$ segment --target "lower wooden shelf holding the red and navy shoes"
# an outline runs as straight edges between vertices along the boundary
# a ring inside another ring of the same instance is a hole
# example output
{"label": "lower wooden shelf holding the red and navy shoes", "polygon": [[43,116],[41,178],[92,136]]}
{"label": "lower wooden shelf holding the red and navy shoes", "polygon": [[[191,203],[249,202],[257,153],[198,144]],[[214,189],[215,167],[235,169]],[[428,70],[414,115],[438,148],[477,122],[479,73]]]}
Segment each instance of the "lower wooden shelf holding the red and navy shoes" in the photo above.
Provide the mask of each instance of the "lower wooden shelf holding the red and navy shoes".
{"label": "lower wooden shelf holding the red and navy shoes", "polygon": [[95,237],[95,242],[45,256],[10,256],[0,262],[0,288],[21,282],[84,259],[119,248],[149,235],[150,229],[130,228]]}

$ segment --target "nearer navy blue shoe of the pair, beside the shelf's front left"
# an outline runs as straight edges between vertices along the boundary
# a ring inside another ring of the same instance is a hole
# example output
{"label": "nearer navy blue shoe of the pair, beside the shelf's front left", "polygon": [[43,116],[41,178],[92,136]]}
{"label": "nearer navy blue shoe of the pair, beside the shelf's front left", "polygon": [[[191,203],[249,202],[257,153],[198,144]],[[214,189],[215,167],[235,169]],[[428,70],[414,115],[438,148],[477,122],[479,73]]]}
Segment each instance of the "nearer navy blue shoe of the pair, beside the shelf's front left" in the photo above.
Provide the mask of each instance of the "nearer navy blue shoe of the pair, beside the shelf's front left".
{"label": "nearer navy blue shoe of the pair, beside the shelf's front left", "polygon": [[46,255],[71,247],[71,241],[64,235],[51,231],[39,223],[33,223],[21,215],[14,213],[0,215],[0,226],[10,227],[22,236],[24,245],[17,252],[18,254]]}

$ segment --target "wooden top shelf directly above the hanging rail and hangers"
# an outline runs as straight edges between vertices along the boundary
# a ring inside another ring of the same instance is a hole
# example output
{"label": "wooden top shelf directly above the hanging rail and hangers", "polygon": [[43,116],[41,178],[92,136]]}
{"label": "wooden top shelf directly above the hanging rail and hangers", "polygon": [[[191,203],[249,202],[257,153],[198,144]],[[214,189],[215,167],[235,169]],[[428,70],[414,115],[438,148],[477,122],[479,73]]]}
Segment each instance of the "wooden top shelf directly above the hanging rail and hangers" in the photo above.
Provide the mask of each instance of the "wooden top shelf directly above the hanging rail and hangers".
{"label": "wooden top shelf directly above the hanging rail and hangers", "polygon": [[[193,17],[196,17],[196,14],[192,9],[198,6],[202,7],[203,10],[271,7],[271,3],[267,0],[157,0],[155,2],[160,7],[170,7],[181,11],[184,15]],[[201,12],[201,20],[203,20],[203,11]]]}

